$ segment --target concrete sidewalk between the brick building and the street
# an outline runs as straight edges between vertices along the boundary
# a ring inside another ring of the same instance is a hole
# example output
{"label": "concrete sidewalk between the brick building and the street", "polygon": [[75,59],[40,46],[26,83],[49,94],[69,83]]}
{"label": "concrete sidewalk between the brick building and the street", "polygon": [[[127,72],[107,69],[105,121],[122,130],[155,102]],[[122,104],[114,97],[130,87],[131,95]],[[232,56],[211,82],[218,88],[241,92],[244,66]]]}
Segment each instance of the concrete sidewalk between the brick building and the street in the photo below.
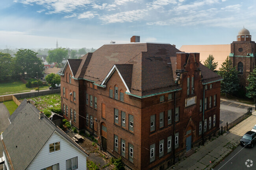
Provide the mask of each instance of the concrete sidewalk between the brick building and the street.
{"label": "concrete sidewalk between the brick building and the street", "polygon": [[241,136],[251,130],[255,124],[256,111],[250,117],[230,129],[230,133],[224,133],[208,141],[204,146],[197,148],[194,154],[179,161],[168,170],[211,170],[214,165],[219,163],[239,145]]}

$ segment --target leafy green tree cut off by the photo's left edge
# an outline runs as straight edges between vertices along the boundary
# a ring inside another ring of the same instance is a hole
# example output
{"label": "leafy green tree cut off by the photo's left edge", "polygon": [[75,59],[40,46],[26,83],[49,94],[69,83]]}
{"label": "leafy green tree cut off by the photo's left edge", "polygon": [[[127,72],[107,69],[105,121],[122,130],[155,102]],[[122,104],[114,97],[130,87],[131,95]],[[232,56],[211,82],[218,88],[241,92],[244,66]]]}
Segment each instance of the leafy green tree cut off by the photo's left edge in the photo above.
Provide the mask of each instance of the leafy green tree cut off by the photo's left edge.
{"label": "leafy green tree cut off by the photo's left edge", "polygon": [[9,79],[14,74],[13,58],[8,53],[0,52],[0,80]]}

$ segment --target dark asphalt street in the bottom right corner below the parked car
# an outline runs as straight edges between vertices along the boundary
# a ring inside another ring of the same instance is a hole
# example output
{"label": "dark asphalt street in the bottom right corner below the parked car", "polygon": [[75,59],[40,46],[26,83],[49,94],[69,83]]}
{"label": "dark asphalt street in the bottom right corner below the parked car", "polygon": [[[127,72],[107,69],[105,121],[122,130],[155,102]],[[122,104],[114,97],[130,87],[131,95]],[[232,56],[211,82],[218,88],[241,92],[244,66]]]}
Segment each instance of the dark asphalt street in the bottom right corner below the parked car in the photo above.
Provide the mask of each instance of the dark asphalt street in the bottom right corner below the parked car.
{"label": "dark asphalt street in the bottom right corner below the parked car", "polygon": [[255,153],[255,146],[253,148],[247,148],[239,145],[221,163],[215,166],[214,170],[255,170]]}

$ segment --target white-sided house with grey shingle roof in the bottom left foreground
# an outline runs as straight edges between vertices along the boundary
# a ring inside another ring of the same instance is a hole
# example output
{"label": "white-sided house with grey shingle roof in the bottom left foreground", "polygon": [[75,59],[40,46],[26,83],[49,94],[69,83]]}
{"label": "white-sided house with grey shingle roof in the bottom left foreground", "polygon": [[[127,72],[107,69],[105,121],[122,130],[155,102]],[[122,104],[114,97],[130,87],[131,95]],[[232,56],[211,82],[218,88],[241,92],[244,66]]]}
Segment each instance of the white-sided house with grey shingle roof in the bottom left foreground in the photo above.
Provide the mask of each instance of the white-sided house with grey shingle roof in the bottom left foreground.
{"label": "white-sided house with grey shingle roof in the bottom left foreground", "polygon": [[1,135],[4,170],[86,170],[88,154],[25,100]]}

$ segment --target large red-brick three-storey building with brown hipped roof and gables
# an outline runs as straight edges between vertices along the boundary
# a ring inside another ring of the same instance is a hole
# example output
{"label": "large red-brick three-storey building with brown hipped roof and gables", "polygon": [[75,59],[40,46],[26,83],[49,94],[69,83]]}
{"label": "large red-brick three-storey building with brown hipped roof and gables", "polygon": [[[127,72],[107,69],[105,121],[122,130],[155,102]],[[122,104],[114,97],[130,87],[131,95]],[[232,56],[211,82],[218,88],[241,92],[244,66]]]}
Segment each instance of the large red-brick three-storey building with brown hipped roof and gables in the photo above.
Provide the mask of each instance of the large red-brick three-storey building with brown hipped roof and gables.
{"label": "large red-brick three-storey building with brown hipped roof and gables", "polygon": [[221,77],[199,53],[135,40],[67,60],[63,116],[128,167],[164,170],[218,132]]}

